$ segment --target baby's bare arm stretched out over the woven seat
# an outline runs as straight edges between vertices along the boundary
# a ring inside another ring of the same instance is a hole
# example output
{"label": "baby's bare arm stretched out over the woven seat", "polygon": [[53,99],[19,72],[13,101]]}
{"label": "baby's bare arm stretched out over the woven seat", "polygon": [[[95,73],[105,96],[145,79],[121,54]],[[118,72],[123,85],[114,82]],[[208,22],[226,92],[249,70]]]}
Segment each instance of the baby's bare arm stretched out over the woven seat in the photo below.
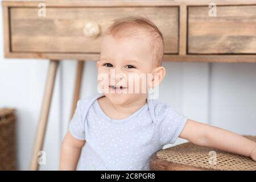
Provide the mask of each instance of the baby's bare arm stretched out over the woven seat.
{"label": "baby's bare arm stretched out over the woven seat", "polygon": [[179,137],[200,146],[250,156],[251,159],[256,161],[256,142],[219,127],[188,119]]}

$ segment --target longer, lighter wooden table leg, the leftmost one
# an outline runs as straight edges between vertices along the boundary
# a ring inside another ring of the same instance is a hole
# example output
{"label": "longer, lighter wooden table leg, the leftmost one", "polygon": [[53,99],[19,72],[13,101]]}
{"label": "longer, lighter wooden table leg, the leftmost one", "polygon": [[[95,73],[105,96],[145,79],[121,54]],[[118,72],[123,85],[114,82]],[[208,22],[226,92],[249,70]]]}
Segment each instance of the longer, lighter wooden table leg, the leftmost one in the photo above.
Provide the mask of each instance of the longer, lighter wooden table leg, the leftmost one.
{"label": "longer, lighter wooden table leg, the leftmost one", "polygon": [[50,60],[48,65],[48,73],[47,73],[47,80],[44,90],[44,97],[43,97],[43,104],[41,108],[38,129],[36,133],[36,140],[34,146],[34,152],[31,158],[30,169],[31,170],[38,170],[38,152],[42,151],[43,144],[44,144],[44,135],[46,134],[46,126],[49,116],[49,109],[51,106],[52,100],[52,93],[55,84],[55,77],[57,72],[57,67],[59,65],[59,60]]}

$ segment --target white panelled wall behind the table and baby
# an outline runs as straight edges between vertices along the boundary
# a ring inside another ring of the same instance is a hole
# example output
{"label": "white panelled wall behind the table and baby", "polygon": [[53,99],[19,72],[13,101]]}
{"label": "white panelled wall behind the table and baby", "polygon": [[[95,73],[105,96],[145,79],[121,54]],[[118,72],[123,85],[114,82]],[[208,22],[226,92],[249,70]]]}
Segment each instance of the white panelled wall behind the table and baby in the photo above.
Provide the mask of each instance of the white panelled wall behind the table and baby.
{"label": "white panelled wall behind the table and baby", "polygon": [[[17,110],[18,164],[19,169],[26,170],[42,105],[48,61],[3,58],[2,28],[0,45],[0,107]],[[160,100],[196,121],[238,134],[256,135],[256,64],[165,62],[163,65],[168,72],[160,86]],[[42,170],[58,169],[60,144],[71,117],[75,71],[76,62],[72,60],[65,60],[59,66],[44,144],[47,163]],[[81,98],[97,92],[96,78],[96,62],[87,61]],[[184,141],[179,139],[176,144]]]}

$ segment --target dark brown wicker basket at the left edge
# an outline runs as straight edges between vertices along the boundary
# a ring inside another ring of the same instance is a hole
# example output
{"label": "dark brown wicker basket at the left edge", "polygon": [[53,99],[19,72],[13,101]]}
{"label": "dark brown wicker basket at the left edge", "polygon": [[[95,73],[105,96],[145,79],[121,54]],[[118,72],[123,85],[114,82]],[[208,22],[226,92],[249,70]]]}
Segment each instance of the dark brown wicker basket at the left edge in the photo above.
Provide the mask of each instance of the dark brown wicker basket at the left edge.
{"label": "dark brown wicker basket at the left edge", "polygon": [[15,110],[0,109],[0,171],[16,170]]}

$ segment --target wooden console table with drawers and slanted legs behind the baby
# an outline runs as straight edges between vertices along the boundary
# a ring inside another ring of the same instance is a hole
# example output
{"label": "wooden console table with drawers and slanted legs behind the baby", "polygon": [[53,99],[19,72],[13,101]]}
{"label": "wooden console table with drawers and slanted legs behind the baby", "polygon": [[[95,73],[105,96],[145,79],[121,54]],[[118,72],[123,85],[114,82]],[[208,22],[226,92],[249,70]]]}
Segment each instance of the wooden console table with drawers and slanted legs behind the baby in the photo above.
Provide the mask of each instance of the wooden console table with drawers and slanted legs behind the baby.
{"label": "wooden console table with drawers and slanted legs behind the baby", "polygon": [[[211,3],[217,16],[209,15]],[[163,33],[164,61],[256,62],[256,0],[2,1],[2,10],[5,57],[49,60],[32,170],[39,167],[59,61],[78,61],[72,116],[84,61],[98,60],[102,32],[115,18],[150,18]]]}

